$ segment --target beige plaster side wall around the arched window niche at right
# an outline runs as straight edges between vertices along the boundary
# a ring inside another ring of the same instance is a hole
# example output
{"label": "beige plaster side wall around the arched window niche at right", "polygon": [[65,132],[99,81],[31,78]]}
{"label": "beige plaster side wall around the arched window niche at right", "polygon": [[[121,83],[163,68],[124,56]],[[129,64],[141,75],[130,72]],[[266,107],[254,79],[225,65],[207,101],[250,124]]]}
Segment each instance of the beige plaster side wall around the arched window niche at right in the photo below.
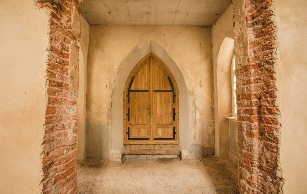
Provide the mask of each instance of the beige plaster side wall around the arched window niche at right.
{"label": "beige plaster side wall around the arched window niche at right", "polygon": [[233,6],[230,4],[212,26],[212,60],[215,115],[215,154],[228,157],[231,116],[231,59],[234,51]]}

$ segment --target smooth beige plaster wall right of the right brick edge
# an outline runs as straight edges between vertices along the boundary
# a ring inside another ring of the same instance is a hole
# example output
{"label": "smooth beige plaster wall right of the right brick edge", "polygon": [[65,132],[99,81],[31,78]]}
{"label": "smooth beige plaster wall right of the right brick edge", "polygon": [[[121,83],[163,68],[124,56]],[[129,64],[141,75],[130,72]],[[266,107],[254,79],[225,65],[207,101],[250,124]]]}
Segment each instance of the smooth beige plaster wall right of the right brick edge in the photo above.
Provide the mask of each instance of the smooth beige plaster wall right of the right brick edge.
{"label": "smooth beige plaster wall right of the right brick edge", "polygon": [[275,6],[283,191],[298,194],[307,191],[307,2],[275,0]]}

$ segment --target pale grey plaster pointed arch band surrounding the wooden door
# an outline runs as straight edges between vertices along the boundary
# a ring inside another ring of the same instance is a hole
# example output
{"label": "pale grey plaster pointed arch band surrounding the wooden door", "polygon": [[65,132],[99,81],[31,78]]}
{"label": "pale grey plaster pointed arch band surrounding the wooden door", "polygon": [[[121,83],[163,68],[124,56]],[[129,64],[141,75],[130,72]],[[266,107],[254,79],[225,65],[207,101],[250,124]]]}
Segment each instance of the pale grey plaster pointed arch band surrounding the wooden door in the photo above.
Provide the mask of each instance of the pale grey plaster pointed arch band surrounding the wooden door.
{"label": "pale grey plaster pointed arch band surrounding the wooden door", "polygon": [[[188,105],[188,89],[186,86],[183,74],[177,64],[168,55],[168,53],[153,41],[147,42],[141,48],[134,50],[132,54],[125,60],[123,68],[119,70],[118,79],[115,82],[115,89],[112,93],[111,105],[111,134],[112,147],[114,150],[121,150],[123,146],[123,99],[124,86],[126,80],[135,67],[135,65],[146,55],[153,53],[159,57],[169,68],[177,82],[179,91],[179,125],[180,125],[180,145],[182,149],[189,150],[190,148],[190,135],[189,135],[189,105]],[[112,153],[110,153],[112,154]]]}

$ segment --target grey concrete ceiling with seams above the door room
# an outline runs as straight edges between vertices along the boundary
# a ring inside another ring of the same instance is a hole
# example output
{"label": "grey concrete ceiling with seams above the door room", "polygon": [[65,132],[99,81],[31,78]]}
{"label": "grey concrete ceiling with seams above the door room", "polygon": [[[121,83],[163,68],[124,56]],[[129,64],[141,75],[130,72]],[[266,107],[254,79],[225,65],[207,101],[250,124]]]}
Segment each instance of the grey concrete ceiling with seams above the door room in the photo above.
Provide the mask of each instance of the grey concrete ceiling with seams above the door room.
{"label": "grey concrete ceiling with seams above the door room", "polygon": [[90,25],[212,26],[231,0],[83,0]]}

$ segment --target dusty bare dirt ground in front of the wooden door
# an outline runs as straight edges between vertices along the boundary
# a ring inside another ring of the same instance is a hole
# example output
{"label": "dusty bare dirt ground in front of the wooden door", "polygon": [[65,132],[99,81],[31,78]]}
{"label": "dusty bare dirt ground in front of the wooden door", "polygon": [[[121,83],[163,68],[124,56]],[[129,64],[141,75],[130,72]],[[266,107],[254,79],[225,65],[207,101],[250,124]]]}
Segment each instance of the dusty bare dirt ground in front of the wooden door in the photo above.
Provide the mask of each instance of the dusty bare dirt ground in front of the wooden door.
{"label": "dusty bare dirt ground in front of the wooden door", "polygon": [[78,193],[239,193],[237,169],[210,157],[126,159],[120,162],[86,158],[78,163]]}

